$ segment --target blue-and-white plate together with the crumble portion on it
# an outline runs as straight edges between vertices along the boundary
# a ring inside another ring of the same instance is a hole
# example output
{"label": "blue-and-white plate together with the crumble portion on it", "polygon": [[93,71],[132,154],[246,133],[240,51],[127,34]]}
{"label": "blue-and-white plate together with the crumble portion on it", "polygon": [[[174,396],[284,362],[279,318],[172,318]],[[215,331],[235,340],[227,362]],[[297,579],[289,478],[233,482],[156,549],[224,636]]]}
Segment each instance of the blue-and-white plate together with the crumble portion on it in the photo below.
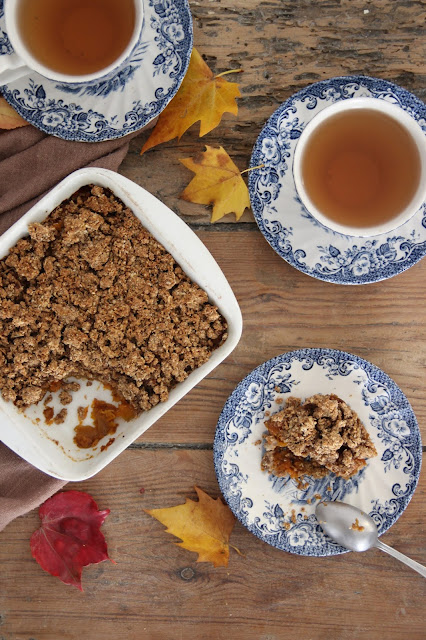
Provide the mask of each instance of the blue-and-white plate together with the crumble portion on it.
{"label": "blue-and-white plate together with the crumble portion on it", "polygon": [[407,398],[381,369],[335,349],[300,349],[238,384],[219,417],[214,464],[252,533],[290,553],[329,556],[347,549],[322,531],[318,501],[364,510],[381,535],[417,486],[421,439]]}

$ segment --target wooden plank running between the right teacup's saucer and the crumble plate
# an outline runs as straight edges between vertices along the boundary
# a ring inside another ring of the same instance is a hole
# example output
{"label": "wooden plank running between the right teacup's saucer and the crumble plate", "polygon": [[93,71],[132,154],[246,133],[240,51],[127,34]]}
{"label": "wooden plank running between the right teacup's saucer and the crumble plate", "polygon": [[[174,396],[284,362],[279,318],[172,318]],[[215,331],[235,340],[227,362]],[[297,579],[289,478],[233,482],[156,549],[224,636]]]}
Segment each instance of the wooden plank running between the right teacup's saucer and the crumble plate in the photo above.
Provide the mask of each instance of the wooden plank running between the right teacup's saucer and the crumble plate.
{"label": "wooden plank running between the right teacup's saucer and the crumble plate", "polygon": [[238,347],[141,438],[211,442],[220,411],[254,367],[285,351],[329,347],[366,358],[408,397],[426,439],[426,261],[361,287],[332,285],[282,260],[258,231],[198,232],[240,303]]}

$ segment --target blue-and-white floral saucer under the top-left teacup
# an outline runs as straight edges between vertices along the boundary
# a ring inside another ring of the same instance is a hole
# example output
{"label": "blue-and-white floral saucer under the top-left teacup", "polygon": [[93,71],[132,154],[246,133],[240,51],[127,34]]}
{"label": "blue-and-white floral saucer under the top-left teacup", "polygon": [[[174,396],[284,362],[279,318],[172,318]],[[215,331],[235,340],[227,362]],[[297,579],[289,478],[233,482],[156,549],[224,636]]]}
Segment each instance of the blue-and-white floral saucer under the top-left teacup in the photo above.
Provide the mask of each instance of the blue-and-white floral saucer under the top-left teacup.
{"label": "blue-and-white floral saucer under the top-left teacup", "polygon": [[[139,43],[115,74],[96,84],[61,84],[34,72],[1,93],[25,120],[65,140],[100,142],[141,129],[179,89],[193,42],[188,0],[143,1]],[[10,53],[0,0],[0,56]]]}

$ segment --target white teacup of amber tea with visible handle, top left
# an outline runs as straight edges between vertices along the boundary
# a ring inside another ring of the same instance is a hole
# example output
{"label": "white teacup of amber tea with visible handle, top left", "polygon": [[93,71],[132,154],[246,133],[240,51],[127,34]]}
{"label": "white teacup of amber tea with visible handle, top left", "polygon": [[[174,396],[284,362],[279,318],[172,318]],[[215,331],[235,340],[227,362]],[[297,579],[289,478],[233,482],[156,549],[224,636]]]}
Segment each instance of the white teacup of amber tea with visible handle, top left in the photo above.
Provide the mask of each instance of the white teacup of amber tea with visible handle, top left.
{"label": "white teacup of amber tea with visible handle, top left", "polygon": [[117,69],[138,42],[142,0],[5,0],[14,53],[0,56],[0,85],[37,71],[92,82]]}

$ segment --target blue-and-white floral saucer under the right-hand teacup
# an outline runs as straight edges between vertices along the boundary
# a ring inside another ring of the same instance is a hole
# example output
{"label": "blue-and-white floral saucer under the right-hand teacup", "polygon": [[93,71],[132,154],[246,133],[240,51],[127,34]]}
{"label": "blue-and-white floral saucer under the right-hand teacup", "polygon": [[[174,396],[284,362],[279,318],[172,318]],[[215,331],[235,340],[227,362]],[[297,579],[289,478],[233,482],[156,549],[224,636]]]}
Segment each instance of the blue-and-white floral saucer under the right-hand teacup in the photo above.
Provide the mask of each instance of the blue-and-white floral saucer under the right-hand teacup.
{"label": "blue-and-white floral saucer under the right-hand teacup", "polygon": [[385,280],[424,257],[426,203],[398,229],[370,238],[336,233],[317,222],[302,205],[293,180],[293,154],[306,124],[339,100],[373,97],[407,111],[426,132],[426,105],[405,89],[366,76],[332,78],[286,100],[269,118],[253,149],[249,191],[260,231],[271,247],[296,269],[337,284]]}

